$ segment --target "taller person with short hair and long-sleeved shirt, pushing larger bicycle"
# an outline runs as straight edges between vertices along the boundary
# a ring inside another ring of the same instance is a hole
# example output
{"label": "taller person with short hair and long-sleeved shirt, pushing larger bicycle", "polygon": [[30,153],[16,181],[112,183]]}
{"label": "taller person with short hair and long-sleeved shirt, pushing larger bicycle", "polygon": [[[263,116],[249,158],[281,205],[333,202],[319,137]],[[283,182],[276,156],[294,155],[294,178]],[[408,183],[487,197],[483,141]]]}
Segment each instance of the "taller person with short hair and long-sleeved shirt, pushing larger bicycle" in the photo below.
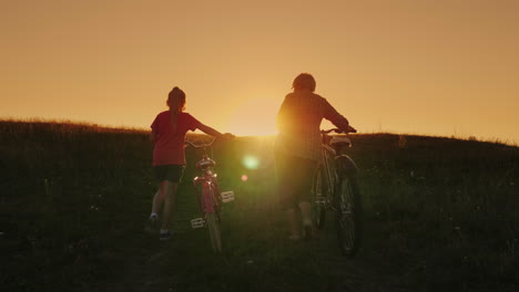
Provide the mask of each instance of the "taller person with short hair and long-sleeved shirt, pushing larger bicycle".
{"label": "taller person with short hair and long-sleeved shirt, pushing larger bicycle", "polygon": [[[326,118],[345,133],[355,131],[325,98],[314,93],[315,86],[311,74],[299,74],[292,84],[293,92],[285,96],[276,121],[279,134],[274,150],[281,204],[287,216],[291,240],[316,236],[311,199],[312,180],[320,159],[320,122]],[[302,221],[297,218],[298,211]]]}

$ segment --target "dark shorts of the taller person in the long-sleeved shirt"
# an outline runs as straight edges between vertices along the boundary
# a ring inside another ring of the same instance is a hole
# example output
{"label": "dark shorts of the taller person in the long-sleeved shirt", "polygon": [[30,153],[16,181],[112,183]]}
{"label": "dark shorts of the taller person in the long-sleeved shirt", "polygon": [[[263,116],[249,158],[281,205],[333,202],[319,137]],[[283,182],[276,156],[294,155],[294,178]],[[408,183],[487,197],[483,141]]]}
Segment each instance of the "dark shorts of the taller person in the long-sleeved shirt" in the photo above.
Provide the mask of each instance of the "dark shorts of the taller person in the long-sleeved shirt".
{"label": "dark shorts of the taller person in the long-sleeved shirt", "polygon": [[318,163],[285,153],[275,156],[282,207],[291,209],[302,201],[312,202],[312,185]]}

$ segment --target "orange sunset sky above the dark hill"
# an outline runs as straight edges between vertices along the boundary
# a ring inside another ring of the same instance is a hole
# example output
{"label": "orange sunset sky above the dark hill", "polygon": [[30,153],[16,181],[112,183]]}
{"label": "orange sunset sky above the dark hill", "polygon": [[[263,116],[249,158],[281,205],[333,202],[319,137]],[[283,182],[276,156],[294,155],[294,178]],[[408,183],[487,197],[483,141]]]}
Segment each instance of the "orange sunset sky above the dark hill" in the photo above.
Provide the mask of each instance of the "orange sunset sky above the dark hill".
{"label": "orange sunset sky above the dark hill", "polygon": [[292,81],[306,72],[359,133],[519,144],[516,0],[0,7],[0,118],[147,129],[180,86],[202,123],[274,134]]}

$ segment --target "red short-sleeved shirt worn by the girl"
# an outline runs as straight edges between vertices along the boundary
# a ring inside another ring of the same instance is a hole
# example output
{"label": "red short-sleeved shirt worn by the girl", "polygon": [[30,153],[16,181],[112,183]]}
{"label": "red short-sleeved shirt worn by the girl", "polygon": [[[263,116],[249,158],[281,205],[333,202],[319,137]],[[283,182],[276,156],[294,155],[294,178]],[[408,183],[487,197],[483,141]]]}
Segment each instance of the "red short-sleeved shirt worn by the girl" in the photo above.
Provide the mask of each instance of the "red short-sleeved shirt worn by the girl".
{"label": "red short-sleeved shirt worn by the girl", "polygon": [[153,165],[185,165],[184,139],[187,131],[195,131],[201,123],[187,113],[179,113],[173,131],[170,111],[160,113],[151,128],[156,133]]}

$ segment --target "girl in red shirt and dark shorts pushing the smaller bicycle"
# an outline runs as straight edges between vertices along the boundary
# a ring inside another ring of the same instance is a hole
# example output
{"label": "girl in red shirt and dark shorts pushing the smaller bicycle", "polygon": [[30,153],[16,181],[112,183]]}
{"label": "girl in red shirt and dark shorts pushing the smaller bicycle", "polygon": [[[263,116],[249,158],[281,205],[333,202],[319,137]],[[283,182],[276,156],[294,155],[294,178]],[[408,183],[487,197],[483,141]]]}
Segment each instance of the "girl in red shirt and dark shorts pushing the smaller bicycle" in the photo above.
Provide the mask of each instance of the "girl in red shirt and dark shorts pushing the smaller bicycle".
{"label": "girl in red shirt and dark shorts pushing the smaller bicycle", "polygon": [[175,194],[182,179],[185,167],[184,139],[187,131],[200,129],[203,133],[221,139],[232,139],[232,134],[221,134],[216,129],[200,123],[192,115],[184,113],[185,93],[174,87],[167,96],[170,111],[160,113],[151,125],[150,140],[155,145],[153,148],[153,173],[159,182],[150,222],[156,226],[159,211],[163,205],[162,227],[160,239],[171,238],[170,221],[175,202]]}

